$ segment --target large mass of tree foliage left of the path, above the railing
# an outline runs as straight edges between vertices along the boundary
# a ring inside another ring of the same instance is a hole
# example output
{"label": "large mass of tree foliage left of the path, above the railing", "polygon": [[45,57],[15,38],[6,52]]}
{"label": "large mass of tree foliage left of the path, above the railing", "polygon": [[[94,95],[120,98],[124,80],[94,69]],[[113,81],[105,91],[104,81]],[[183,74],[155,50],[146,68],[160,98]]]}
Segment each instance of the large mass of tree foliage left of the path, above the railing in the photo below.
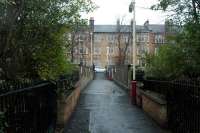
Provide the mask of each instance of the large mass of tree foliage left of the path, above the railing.
{"label": "large mass of tree foliage left of the path, above the railing", "polygon": [[[0,76],[2,79],[53,79],[71,71],[66,33],[90,0],[8,0],[0,3]],[[1,34],[2,33],[2,34]]]}

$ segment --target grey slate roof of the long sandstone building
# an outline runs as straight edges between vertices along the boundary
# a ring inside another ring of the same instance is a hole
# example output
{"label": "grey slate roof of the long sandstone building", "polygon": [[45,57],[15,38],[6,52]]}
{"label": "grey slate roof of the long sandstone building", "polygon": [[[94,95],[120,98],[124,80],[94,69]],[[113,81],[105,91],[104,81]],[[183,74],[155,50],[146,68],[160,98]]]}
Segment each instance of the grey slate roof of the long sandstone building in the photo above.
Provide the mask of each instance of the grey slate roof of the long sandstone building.
{"label": "grey slate roof of the long sandstone building", "polygon": [[[149,29],[142,25],[136,25],[137,32],[155,32],[155,33],[164,33],[165,25],[149,25]],[[114,33],[117,32],[116,25],[95,25],[94,32],[99,33]],[[130,25],[122,25],[121,32],[132,32],[132,28]]]}

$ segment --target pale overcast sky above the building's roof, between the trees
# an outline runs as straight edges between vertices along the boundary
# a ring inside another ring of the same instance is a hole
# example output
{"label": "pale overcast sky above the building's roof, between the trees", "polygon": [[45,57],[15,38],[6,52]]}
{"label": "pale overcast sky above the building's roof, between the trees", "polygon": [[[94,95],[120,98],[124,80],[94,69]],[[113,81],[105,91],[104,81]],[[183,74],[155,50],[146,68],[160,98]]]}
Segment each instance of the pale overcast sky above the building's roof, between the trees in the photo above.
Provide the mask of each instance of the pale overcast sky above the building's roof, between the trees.
{"label": "pale overcast sky above the building's roof, between the trees", "polygon": [[[95,24],[116,24],[117,18],[125,16],[125,23],[129,24],[132,14],[128,12],[132,0],[92,0],[99,8],[93,13],[83,15],[89,19],[94,17]],[[150,24],[163,24],[165,14],[161,11],[146,9],[156,4],[158,0],[135,0],[136,1],[136,24],[142,25],[148,19]]]}

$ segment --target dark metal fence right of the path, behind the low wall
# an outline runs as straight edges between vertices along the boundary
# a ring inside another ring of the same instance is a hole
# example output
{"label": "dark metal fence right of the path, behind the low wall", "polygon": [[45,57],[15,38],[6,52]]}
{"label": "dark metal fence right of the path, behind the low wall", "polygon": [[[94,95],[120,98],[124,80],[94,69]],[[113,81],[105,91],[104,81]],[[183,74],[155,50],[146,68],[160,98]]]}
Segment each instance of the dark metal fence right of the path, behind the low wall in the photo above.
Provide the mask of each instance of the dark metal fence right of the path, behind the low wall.
{"label": "dark metal fence right of the path, behind the low wall", "polygon": [[169,127],[173,133],[200,133],[200,82],[144,81],[143,89],[166,96]]}

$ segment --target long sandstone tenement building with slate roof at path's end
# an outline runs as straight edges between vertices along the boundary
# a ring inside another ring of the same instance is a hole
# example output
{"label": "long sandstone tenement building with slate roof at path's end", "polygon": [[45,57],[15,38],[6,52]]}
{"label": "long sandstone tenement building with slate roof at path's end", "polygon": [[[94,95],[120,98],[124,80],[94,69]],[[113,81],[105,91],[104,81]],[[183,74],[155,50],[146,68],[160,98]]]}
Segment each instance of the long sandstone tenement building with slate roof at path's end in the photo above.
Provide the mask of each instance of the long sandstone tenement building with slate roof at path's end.
{"label": "long sandstone tenement building with slate roof at path's end", "polygon": [[[93,33],[93,63],[96,66],[115,65],[122,57],[124,57],[124,64],[132,64],[132,26],[120,25],[119,31],[118,25],[94,25],[94,19],[90,20],[87,30],[78,34],[79,44],[75,48],[74,55],[76,63],[83,60],[83,63],[90,65],[91,32]],[[84,36],[83,39],[80,39],[82,36]],[[138,66],[144,66],[145,53],[154,54],[163,44],[165,44],[165,25],[149,24],[149,21],[146,21],[144,25],[137,25],[135,63]],[[119,50],[125,52],[119,56]]]}

